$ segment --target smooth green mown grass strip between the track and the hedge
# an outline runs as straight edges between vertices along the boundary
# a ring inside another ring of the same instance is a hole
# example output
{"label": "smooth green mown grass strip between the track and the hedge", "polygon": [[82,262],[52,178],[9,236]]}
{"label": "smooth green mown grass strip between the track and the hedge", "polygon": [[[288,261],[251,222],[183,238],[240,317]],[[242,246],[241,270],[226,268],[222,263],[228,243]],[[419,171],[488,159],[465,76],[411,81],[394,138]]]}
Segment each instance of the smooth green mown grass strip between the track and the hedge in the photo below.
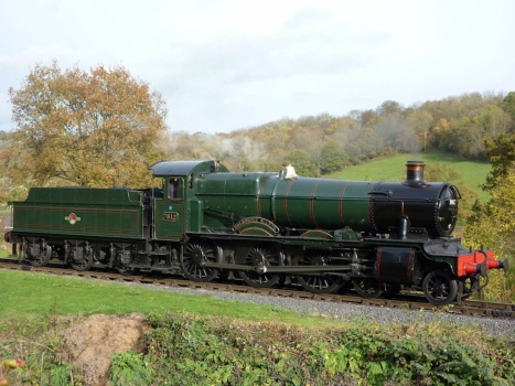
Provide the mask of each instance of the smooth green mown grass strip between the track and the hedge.
{"label": "smooth green mown grass strip between the track and the hedge", "polygon": [[334,319],[305,315],[269,305],[187,296],[117,282],[0,269],[2,318],[58,314],[126,314],[187,311],[200,315],[283,322],[298,326],[334,326]]}

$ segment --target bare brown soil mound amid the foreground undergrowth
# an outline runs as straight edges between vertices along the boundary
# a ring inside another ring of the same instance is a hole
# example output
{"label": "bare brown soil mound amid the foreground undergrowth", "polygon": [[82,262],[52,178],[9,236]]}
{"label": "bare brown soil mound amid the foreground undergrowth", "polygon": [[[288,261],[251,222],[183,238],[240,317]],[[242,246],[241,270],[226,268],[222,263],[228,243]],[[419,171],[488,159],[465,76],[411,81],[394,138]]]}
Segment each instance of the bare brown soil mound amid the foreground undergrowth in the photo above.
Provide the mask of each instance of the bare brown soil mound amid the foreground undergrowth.
{"label": "bare brown soil mound amid the foreground undergrowth", "polygon": [[112,354],[143,352],[149,329],[141,314],[92,315],[65,331],[63,351],[83,368],[86,385],[104,386]]}

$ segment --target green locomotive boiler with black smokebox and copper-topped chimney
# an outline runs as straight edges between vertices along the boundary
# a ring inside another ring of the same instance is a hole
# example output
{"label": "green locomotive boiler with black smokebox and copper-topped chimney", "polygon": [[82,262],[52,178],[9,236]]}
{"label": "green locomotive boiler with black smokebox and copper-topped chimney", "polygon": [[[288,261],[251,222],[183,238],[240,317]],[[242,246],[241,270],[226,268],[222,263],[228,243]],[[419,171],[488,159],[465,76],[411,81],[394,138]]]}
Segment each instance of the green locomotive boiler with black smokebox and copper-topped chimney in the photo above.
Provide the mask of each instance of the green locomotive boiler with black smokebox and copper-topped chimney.
{"label": "green locomotive boiler with black smokebox and copper-topped chimney", "polygon": [[403,183],[299,178],[291,167],[279,174],[211,173],[201,176],[197,197],[211,210],[215,228],[232,226],[214,219],[225,214],[267,218],[298,230],[348,227],[400,238],[408,232],[448,237],[458,219],[458,189],[427,183],[423,167],[408,162]]}

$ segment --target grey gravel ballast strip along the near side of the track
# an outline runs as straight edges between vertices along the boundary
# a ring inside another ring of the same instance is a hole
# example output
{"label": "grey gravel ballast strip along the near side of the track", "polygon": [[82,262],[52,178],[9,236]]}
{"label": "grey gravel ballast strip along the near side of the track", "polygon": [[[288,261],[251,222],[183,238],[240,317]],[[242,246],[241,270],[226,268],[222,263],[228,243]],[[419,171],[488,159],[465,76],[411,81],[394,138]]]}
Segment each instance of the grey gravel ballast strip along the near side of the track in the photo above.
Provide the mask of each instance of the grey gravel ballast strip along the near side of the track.
{"label": "grey gravel ballast strip along the near side of the track", "polygon": [[447,312],[417,311],[405,309],[382,308],[352,303],[324,302],[310,299],[273,297],[258,293],[239,293],[222,290],[191,289],[182,287],[165,287],[155,285],[136,285],[155,290],[165,290],[183,294],[211,296],[222,300],[232,300],[254,304],[267,304],[275,308],[288,309],[310,315],[324,315],[342,321],[378,323],[412,324],[430,322],[449,322],[457,324],[476,325],[483,333],[493,336],[505,336],[515,342],[515,321],[507,319],[491,319],[485,317],[465,317]]}

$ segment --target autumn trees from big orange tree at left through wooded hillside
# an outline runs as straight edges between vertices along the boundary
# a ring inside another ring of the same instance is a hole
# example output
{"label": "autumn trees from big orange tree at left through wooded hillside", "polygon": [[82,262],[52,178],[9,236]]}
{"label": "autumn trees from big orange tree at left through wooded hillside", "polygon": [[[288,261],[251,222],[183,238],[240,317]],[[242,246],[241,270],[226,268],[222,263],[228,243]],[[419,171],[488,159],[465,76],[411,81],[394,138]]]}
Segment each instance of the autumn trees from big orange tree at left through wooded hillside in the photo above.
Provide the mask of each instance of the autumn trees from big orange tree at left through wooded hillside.
{"label": "autumn trees from big orange tree at left through wooded hillside", "polygon": [[164,159],[217,159],[233,171],[292,163],[305,176],[399,152],[486,161],[485,141],[515,131],[515,92],[410,107],[386,100],[337,117],[283,118],[216,135],[170,130],[161,94],[121,66],[36,65],[9,95],[15,129],[0,132],[4,186],[144,185],[148,165]]}

